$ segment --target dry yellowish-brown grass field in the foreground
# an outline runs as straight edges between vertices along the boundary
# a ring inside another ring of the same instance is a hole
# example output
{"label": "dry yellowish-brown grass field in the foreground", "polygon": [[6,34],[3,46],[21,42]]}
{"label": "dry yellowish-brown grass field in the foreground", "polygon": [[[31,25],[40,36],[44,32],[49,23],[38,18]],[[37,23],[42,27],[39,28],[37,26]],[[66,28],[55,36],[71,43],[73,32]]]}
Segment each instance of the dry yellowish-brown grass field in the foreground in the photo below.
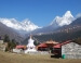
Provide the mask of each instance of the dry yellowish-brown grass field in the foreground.
{"label": "dry yellowish-brown grass field in the foreground", "polygon": [[15,54],[0,51],[0,63],[81,63],[77,59],[54,59],[51,55]]}

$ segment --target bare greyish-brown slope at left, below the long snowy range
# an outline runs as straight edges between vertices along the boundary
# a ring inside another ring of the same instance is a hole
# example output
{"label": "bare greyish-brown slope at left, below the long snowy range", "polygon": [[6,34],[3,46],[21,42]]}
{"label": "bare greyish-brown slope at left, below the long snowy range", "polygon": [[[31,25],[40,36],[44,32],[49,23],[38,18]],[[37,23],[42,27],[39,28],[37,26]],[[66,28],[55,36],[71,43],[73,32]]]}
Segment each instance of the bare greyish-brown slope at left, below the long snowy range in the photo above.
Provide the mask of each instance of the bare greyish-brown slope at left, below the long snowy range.
{"label": "bare greyish-brown slope at left, below the long snowy range", "polygon": [[17,42],[21,42],[24,39],[24,37],[15,33],[12,28],[0,23],[0,37],[4,38],[4,35],[8,35],[10,39],[15,39]]}

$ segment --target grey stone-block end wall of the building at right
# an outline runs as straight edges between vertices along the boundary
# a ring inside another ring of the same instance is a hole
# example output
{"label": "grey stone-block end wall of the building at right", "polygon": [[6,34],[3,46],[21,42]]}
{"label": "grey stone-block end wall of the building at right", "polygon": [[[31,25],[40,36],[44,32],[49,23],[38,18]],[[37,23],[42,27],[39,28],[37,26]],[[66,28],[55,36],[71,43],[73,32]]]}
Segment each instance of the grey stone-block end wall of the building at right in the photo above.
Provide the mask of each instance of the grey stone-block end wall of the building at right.
{"label": "grey stone-block end wall of the building at right", "polygon": [[62,46],[62,55],[66,59],[81,59],[81,46],[75,42],[69,42]]}

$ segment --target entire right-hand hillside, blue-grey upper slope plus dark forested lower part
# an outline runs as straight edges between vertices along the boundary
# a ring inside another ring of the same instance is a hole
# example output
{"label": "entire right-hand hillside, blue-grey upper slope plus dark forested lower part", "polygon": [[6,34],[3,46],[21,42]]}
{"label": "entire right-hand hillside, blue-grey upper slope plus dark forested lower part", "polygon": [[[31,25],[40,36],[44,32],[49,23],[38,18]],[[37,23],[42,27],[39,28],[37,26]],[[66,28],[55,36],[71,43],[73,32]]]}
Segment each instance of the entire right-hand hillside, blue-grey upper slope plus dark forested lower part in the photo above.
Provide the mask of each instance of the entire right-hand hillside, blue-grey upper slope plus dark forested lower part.
{"label": "entire right-hand hillside, blue-grey upper slope plus dark forested lower part", "polygon": [[[43,42],[46,40],[56,40],[63,42],[65,40],[73,40],[81,37],[81,17],[75,20],[70,25],[65,25],[57,28],[56,30],[42,35],[33,35],[33,37],[39,41]],[[24,43],[27,42],[26,38]]]}

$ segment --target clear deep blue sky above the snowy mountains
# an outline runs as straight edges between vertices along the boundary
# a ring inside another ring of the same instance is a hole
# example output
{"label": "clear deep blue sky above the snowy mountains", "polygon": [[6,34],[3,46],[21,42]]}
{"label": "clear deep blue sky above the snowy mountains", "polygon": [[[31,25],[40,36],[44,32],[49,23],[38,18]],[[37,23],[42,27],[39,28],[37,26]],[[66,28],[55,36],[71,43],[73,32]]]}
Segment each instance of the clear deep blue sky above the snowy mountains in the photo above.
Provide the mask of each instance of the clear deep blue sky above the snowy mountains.
{"label": "clear deep blue sky above the snowy mountains", "polygon": [[49,25],[68,10],[73,16],[81,13],[81,0],[0,0],[0,17],[29,18],[38,26]]}

